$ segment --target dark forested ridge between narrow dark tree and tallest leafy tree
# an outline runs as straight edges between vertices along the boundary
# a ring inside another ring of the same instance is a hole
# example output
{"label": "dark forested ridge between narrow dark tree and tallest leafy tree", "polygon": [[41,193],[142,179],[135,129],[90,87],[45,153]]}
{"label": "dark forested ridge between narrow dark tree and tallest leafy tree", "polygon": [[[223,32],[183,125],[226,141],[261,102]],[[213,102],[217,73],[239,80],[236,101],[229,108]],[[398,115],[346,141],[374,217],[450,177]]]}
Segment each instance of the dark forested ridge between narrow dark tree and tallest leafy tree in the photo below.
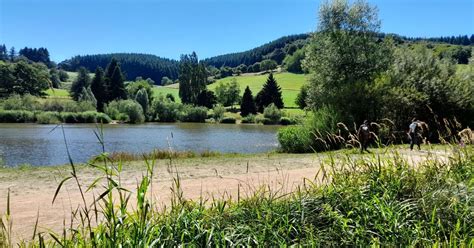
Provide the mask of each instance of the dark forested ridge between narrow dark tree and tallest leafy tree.
{"label": "dark forested ridge between narrow dark tree and tallest leafy tree", "polygon": [[288,51],[285,51],[285,49],[296,49],[296,47],[292,47],[291,44],[298,41],[304,42],[304,40],[309,38],[309,36],[310,34],[284,36],[245,52],[219,55],[205,59],[204,62],[217,68],[222,66],[236,67],[241,64],[248,66],[264,59],[272,59],[280,64],[285,58],[285,55],[288,53]]}

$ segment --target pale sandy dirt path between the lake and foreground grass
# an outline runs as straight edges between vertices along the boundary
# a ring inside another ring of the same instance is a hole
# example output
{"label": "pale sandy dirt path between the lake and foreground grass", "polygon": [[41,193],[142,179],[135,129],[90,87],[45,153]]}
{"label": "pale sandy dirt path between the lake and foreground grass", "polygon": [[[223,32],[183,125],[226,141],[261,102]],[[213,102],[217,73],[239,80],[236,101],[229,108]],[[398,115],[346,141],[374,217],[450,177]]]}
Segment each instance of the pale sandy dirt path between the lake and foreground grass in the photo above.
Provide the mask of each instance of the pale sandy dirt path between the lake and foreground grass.
{"label": "pale sandy dirt path between the lake and foreground grass", "polygon": [[[424,161],[433,154],[400,150],[412,164]],[[385,154],[384,156],[391,156]],[[434,156],[446,158],[440,151]],[[337,155],[345,157],[346,155]],[[351,155],[352,156],[352,155]],[[353,155],[368,158],[365,155]],[[314,180],[321,164],[328,162],[329,155],[317,154],[272,154],[236,157],[216,157],[181,159],[173,161],[177,168],[181,187],[187,199],[211,199],[213,197],[246,197],[262,185],[269,186],[279,193],[289,193],[305,180]],[[159,205],[169,203],[174,173],[170,173],[169,161],[159,160],[155,166],[151,194]],[[5,213],[7,191],[11,192],[11,215],[14,240],[30,239],[38,216],[40,231],[60,231],[64,224],[69,225],[71,210],[82,203],[77,186],[67,182],[56,202],[52,198],[59,182],[68,175],[69,167],[42,167],[0,170],[0,214]],[[133,190],[145,171],[142,162],[133,162],[124,167],[121,174],[125,188]],[[89,185],[99,176],[90,167],[78,169],[82,185]],[[321,174],[319,174],[321,175]],[[92,202],[93,194],[88,192],[86,200]]]}

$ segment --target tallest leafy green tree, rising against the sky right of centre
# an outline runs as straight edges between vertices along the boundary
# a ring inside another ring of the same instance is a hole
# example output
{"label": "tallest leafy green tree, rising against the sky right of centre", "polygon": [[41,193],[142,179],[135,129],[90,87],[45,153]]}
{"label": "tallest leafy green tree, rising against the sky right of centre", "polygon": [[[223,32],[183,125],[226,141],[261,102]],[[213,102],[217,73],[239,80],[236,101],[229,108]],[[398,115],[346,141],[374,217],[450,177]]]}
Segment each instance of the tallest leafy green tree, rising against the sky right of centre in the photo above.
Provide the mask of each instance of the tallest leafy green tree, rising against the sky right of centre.
{"label": "tallest leafy green tree, rising against the sky right of centre", "polygon": [[374,79],[390,65],[389,41],[380,41],[377,9],[364,1],[324,3],[318,32],[306,51],[304,66],[311,73],[309,103],[332,106],[346,122],[376,118]]}

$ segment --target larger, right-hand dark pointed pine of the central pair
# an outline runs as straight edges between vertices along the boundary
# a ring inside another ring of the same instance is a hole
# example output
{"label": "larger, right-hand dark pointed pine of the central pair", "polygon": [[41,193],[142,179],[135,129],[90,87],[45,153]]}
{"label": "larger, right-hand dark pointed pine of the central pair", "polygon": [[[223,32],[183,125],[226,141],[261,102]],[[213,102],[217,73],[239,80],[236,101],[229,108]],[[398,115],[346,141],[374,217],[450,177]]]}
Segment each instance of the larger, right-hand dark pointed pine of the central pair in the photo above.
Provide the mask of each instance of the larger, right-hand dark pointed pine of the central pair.
{"label": "larger, right-hand dark pointed pine of the central pair", "polygon": [[262,112],[263,109],[271,103],[274,103],[279,109],[284,107],[283,99],[281,97],[281,88],[273,77],[273,73],[270,73],[267,82],[265,82],[262,90],[257,94],[256,98],[259,112]]}

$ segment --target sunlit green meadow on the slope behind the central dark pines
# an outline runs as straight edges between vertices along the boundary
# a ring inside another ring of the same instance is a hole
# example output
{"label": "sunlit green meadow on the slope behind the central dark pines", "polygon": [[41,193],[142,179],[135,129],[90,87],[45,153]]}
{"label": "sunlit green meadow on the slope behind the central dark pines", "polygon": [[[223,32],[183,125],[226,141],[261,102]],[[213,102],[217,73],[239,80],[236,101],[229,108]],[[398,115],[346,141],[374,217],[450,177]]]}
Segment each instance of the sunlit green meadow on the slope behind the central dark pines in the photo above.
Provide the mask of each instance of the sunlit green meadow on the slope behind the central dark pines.
{"label": "sunlit green meadow on the slope behind the central dark pines", "polygon": [[[283,102],[285,103],[285,107],[296,108],[297,105],[295,104],[296,96],[301,88],[301,86],[306,82],[308,76],[303,74],[294,74],[294,73],[276,73],[274,74],[276,81],[281,87],[282,95],[283,95]],[[244,76],[237,76],[237,77],[227,77],[224,79],[217,80],[215,83],[210,84],[208,88],[210,90],[214,90],[216,86],[221,82],[229,82],[232,78],[236,78],[237,82],[240,84],[241,92],[240,94],[244,93],[245,87],[247,85],[252,90],[254,96],[262,89],[263,84],[266,82],[268,75],[244,75]],[[171,93],[175,96],[176,99],[178,97],[178,88],[176,85],[164,86],[164,87],[155,87],[153,89],[155,94],[168,94]]]}

